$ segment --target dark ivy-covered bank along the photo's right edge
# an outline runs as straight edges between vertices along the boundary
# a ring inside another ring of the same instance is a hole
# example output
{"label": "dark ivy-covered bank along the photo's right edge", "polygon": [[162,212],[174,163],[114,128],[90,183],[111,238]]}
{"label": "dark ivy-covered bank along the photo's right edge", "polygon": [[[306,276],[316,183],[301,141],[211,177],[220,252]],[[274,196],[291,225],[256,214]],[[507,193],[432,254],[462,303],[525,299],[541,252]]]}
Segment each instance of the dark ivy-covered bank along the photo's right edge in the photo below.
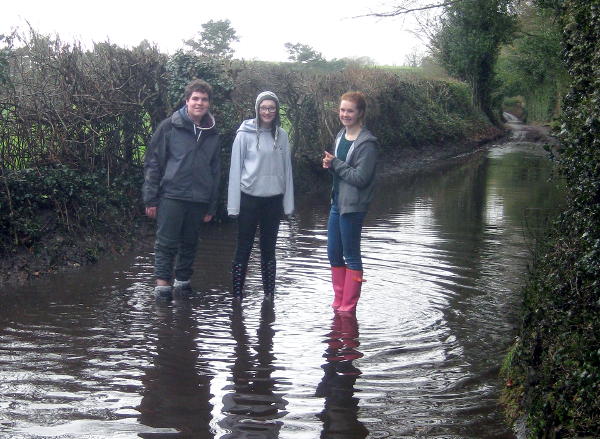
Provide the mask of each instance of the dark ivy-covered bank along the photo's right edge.
{"label": "dark ivy-covered bank along the photo's right edge", "polygon": [[563,33],[571,90],[557,158],[568,205],[532,266],[505,361],[507,413],[531,438],[600,437],[600,1],[544,1]]}

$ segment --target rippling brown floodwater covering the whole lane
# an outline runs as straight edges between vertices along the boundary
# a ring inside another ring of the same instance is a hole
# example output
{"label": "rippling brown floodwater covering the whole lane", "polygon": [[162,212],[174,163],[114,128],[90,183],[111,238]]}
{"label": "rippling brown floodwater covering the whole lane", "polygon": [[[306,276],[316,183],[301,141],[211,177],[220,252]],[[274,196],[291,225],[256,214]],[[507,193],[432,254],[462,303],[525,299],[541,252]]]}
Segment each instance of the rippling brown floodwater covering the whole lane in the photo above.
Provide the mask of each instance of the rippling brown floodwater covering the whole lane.
{"label": "rippling brown floodwater covering the whole lane", "polygon": [[336,316],[326,196],[282,224],[277,293],[235,228],[203,232],[197,297],[157,304],[142,250],[4,291],[2,438],[513,438],[498,397],[532,238],[562,197],[512,142],[387,180],[363,233],[355,317]]}

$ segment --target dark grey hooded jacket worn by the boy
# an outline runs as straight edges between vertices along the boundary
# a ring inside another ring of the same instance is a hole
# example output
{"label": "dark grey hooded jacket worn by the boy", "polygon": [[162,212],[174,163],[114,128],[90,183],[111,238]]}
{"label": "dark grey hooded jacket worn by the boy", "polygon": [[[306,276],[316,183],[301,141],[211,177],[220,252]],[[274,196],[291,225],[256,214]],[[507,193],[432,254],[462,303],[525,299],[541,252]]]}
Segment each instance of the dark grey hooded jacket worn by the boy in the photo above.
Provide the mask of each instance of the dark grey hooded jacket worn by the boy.
{"label": "dark grey hooded jacket worn by the boy", "polygon": [[208,203],[207,214],[214,215],[220,173],[220,136],[214,117],[207,113],[197,126],[183,107],[158,125],[146,150],[144,204],[158,206],[161,198],[202,202]]}

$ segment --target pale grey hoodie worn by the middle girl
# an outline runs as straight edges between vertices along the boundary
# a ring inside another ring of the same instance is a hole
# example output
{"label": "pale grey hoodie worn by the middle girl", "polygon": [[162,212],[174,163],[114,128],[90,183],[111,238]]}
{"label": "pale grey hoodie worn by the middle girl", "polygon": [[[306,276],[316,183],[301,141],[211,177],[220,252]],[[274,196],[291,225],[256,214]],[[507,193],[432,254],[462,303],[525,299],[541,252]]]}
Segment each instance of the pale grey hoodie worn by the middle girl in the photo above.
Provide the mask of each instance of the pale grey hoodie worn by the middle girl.
{"label": "pale grey hoodie worn by the middle girl", "polygon": [[288,135],[277,127],[277,138],[270,129],[257,128],[256,119],[242,122],[231,148],[227,213],[240,213],[244,192],[255,197],[283,194],[283,213],[294,212],[294,180]]}

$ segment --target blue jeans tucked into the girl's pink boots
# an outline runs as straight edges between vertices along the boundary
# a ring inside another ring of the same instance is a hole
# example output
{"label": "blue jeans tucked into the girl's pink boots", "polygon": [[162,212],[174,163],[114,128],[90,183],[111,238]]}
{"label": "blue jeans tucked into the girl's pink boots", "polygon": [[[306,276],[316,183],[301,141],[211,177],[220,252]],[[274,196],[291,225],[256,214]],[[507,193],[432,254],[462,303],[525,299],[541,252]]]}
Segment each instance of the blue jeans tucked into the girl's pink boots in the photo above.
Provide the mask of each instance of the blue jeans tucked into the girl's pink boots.
{"label": "blue jeans tucked into the girl's pink boots", "polygon": [[346,266],[362,271],[360,233],[366,212],[340,214],[337,205],[331,205],[327,222],[327,256],[332,267]]}

